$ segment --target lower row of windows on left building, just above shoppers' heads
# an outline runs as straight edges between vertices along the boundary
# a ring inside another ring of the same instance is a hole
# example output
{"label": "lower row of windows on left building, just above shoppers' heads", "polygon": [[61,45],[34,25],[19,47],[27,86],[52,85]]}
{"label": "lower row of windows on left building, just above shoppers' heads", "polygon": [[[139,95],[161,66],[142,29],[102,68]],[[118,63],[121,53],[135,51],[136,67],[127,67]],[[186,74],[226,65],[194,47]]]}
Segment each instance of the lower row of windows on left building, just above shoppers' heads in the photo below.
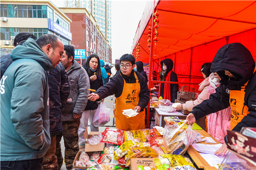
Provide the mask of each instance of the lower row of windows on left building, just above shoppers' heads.
{"label": "lower row of windows on left building, just above shoppers' heads", "polygon": [[47,34],[48,30],[45,28],[1,28],[0,39],[11,40],[11,36],[16,36],[20,32],[32,33],[38,39],[41,35]]}

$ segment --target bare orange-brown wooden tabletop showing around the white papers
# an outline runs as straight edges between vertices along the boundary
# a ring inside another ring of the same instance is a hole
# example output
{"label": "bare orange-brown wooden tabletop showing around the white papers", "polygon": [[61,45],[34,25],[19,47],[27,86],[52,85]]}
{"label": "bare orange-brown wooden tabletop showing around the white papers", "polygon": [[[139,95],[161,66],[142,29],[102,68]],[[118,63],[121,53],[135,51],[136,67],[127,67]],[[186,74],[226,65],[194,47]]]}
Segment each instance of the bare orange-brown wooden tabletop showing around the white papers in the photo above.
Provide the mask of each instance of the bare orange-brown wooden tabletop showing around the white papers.
{"label": "bare orange-brown wooden tabletop showing around the white papers", "polygon": [[[205,132],[204,130],[195,130],[197,132],[199,132],[202,136],[205,137],[211,137],[212,139],[214,139],[212,136],[209,135],[209,133]],[[219,144],[219,142],[214,139],[214,141]],[[199,144],[207,144],[207,145],[215,145],[215,144],[210,144],[210,143],[206,143],[204,141],[202,142],[198,142]],[[215,167],[210,166],[206,160],[204,160],[204,158],[199,154],[198,151],[196,151],[192,145],[189,146],[188,150],[187,150],[189,156],[193,159],[193,161],[195,162],[195,164],[197,165],[198,168],[202,168],[204,170],[217,170]]]}

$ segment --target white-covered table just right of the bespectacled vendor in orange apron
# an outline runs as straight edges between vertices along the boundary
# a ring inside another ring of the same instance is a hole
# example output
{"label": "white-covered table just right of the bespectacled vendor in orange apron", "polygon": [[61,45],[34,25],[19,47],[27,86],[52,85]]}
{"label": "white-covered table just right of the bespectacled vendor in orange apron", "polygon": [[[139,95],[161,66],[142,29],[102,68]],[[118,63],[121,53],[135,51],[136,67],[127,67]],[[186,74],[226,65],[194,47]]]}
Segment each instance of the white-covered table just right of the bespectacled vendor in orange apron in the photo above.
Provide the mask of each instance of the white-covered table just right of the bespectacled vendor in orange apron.
{"label": "white-covered table just right of the bespectacled vendor in orange apron", "polygon": [[179,119],[185,120],[187,115],[184,115],[180,112],[163,112],[159,108],[155,108],[155,126],[165,126],[165,121],[163,118],[165,116],[178,116]]}

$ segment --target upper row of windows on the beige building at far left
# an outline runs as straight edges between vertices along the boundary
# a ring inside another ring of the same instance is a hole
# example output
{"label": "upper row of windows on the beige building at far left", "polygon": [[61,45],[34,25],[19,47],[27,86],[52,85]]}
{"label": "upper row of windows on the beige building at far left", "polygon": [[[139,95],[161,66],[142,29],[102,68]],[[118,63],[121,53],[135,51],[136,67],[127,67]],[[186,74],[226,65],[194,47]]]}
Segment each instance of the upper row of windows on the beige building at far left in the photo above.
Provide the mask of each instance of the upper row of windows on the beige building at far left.
{"label": "upper row of windows on the beige building at far left", "polygon": [[46,5],[0,5],[0,16],[9,18],[47,18]]}

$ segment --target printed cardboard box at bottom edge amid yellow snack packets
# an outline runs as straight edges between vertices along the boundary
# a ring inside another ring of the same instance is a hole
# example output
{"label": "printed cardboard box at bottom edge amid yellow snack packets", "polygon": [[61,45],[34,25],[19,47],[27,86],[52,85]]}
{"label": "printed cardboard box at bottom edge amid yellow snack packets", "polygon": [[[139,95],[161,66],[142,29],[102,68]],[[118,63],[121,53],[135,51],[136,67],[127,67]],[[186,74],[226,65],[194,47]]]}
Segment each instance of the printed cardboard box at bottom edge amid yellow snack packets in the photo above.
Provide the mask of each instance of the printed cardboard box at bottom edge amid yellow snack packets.
{"label": "printed cardboard box at bottom edge amid yellow snack packets", "polygon": [[130,170],[139,170],[139,168],[138,168],[139,165],[142,165],[143,167],[149,166],[154,169],[155,168],[154,158],[148,158],[148,157],[133,157],[133,158],[131,158]]}

